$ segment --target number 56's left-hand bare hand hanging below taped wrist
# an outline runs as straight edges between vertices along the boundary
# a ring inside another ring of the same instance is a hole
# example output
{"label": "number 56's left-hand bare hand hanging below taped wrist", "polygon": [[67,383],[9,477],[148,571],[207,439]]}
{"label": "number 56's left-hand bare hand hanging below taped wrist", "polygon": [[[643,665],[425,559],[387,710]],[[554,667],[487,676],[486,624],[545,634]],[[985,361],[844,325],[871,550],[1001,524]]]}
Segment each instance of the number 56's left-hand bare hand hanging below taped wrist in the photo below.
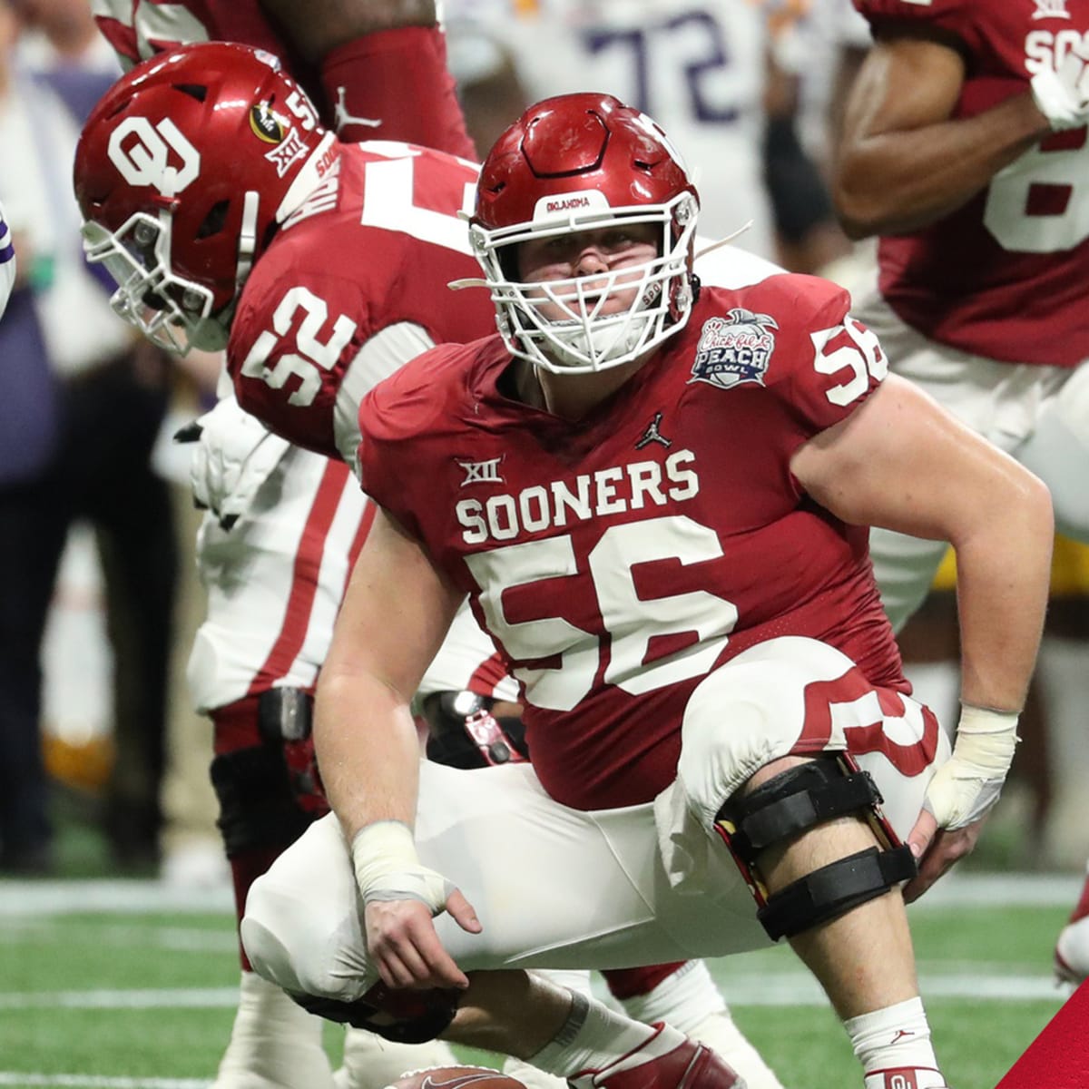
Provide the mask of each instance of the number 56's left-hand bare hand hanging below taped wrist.
{"label": "number 56's left-hand bare hand hanging below taped wrist", "polygon": [[[454,889],[446,909],[464,930],[479,933],[468,901]],[[427,906],[418,900],[372,901],[365,911],[367,950],[390,988],[468,987],[468,978],[446,952]]]}

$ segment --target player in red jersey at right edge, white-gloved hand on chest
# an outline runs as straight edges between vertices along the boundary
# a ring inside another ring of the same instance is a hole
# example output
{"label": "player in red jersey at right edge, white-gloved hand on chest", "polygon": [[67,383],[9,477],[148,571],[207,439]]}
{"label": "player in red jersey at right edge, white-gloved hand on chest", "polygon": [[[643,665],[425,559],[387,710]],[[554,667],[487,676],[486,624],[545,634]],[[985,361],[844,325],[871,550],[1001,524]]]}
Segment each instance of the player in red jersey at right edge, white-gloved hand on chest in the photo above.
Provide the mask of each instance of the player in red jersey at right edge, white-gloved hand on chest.
{"label": "player in red jersey at right edge, white-gloved hand on chest", "polygon": [[[1089,9],[855,7],[874,45],[848,101],[834,198],[849,234],[880,235],[879,283],[857,313],[897,374],[1038,474],[1059,529],[1087,541]],[[944,549],[872,535],[897,629]],[[1078,933],[1061,935],[1063,976],[1064,954],[1089,971]]]}

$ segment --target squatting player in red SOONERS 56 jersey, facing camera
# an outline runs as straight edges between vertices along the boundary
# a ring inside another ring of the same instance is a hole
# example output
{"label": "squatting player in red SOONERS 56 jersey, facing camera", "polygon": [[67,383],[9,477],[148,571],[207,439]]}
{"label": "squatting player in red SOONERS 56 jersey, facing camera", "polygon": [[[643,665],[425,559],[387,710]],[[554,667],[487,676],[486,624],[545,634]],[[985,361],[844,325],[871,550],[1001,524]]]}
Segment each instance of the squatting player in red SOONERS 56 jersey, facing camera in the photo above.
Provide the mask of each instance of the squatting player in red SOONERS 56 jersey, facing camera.
{"label": "squatting player in red SOONERS 56 jersey, facing camera", "polygon": [[[697,208],[664,134],[608,96],[538,103],[488,155],[470,236],[500,333],[360,405],[379,512],[316,703],[334,813],[255,883],[243,940],[351,1017],[377,980],[467,986],[464,1006],[481,969],[785,937],[867,1089],[934,1089],[904,901],[971,849],[1008,770],[1050,500],[885,378],[845,292],[729,249],[700,284]],[[960,551],[952,755],[903,677],[871,524]],[[522,685],[533,764],[416,761],[408,700],[466,597]],[[622,1084],[577,1004],[516,1015],[491,1047]]]}

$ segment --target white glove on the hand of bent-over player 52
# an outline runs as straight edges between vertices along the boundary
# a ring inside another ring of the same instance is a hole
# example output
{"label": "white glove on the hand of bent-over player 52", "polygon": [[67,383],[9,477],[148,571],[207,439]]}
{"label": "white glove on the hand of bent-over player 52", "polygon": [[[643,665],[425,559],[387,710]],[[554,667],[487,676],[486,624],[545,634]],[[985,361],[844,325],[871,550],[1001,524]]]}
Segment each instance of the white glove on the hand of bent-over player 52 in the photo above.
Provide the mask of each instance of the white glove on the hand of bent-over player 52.
{"label": "white glove on the hand of bent-over player 52", "polygon": [[224,397],[174,440],[197,442],[189,467],[193,500],[211,511],[223,529],[246,513],[257,489],[291,449],[290,442],[243,412],[234,397]]}

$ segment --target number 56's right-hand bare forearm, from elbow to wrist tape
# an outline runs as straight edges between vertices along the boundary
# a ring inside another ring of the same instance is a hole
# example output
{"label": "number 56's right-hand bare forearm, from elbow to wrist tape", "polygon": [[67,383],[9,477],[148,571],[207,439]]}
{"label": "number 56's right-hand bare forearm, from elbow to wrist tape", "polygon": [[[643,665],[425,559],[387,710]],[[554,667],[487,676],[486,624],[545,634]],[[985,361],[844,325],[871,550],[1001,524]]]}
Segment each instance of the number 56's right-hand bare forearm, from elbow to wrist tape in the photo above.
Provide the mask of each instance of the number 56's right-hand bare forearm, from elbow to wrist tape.
{"label": "number 56's right-hand bare forearm, from elbow to wrist tape", "polygon": [[960,698],[1019,711],[1036,664],[1054,527],[1047,488],[1024,470],[992,497],[992,514],[955,540]]}

